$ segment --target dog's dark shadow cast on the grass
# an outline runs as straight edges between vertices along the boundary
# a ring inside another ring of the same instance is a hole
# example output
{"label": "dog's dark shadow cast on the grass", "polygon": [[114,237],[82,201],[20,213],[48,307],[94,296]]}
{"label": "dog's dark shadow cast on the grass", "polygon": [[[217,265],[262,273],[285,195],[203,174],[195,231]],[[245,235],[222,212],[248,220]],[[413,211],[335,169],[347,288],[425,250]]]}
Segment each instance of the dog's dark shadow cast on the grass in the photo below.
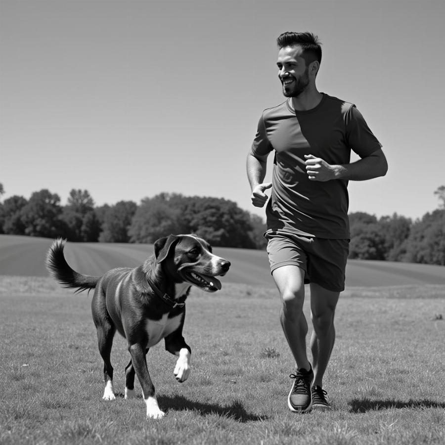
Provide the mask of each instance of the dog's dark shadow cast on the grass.
{"label": "dog's dark shadow cast on the grass", "polygon": [[[117,397],[124,398],[124,394],[118,393]],[[142,396],[137,396],[142,399]],[[217,414],[221,417],[227,417],[237,422],[258,422],[259,420],[267,420],[268,416],[256,415],[246,411],[241,401],[233,401],[229,405],[221,406],[216,403],[203,403],[192,401],[184,396],[157,396],[159,406],[164,411],[184,411],[186,409],[197,411],[201,416],[209,414]]]}

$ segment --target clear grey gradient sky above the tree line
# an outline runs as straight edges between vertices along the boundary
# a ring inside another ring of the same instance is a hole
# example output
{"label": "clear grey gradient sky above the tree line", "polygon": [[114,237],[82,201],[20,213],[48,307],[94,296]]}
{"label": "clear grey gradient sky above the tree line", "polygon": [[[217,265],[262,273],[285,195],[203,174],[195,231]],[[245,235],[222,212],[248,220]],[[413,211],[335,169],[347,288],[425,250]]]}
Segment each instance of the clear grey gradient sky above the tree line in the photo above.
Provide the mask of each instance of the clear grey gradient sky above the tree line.
{"label": "clear grey gradient sky above the tree line", "polygon": [[318,89],[356,104],[389,162],[350,182],[350,211],[421,217],[445,184],[444,17],[443,0],[0,0],[3,199],[166,191],[263,216],[245,160],[284,100],[276,37],[311,31]]}

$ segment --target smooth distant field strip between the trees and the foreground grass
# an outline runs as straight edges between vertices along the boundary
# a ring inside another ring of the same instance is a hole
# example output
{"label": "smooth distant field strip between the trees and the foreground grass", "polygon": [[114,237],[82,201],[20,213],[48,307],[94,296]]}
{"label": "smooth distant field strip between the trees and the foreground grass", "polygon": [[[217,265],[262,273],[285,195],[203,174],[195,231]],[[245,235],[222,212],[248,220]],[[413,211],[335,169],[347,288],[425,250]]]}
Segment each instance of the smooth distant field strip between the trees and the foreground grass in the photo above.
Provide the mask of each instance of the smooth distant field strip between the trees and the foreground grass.
{"label": "smooth distant field strip between the trees and the foreground grass", "polygon": [[[0,235],[0,275],[48,276],[46,251],[52,240]],[[214,248],[232,263],[223,282],[273,286],[265,251]],[[79,272],[101,275],[113,267],[134,267],[153,254],[151,244],[67,243],[68,263]],[[347,287],[445,284],[445,267],[349,260]]]}

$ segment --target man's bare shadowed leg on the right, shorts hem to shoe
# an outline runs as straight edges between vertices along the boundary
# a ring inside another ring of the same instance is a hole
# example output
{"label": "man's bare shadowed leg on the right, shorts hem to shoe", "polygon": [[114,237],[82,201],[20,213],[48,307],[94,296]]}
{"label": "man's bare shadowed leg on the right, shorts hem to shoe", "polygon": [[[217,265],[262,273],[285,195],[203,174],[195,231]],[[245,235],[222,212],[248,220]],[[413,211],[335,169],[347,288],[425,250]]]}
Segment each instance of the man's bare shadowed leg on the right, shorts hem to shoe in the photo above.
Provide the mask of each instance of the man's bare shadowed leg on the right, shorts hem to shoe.
{"label": "man's bare shadowed leg on the right, shorts hem to shoe", "polygon": [[311,318],[313,331],[311,350],[313,357],[313,385],[323,387],[326,371],[335,342],[334,314],[340,292],[334,292],[311,283]]}

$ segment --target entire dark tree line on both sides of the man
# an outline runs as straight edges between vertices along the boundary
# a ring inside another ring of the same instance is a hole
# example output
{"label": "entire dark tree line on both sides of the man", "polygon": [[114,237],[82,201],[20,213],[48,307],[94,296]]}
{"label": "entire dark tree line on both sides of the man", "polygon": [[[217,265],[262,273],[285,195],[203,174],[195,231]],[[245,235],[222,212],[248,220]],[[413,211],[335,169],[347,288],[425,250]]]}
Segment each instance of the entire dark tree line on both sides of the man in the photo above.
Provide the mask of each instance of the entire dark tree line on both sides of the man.
{"label": "entire dark tree line on both sides of the man", "polygon": [[[0,184],[0,194],[3,187]],[[437,210],[412,221],[398,214],[349,215],[349,258],[445,266],[445,186],[435,192]],[[223,198],[160,193],[95,206],[87,190],[72,189],[67,204],[47,189],[29,200],[14,195],[0,203],[0,233],[62,236],[69,241],[153,243],[170,233],[195,233],[214,246],[264,249],[263,219]]]}

